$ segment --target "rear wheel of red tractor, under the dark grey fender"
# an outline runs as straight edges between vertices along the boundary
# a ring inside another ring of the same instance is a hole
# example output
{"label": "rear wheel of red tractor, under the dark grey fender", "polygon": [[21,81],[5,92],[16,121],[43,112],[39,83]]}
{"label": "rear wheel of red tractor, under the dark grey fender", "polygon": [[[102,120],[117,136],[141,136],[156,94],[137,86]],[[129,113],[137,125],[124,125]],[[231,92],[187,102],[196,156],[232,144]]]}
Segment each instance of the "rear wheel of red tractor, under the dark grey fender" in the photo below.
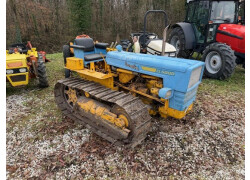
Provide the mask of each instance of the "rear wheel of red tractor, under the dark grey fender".
{"label": "rear wheel of red tractor, under the dark grey fender", "polygon": [[176,49],[177,57],[189,58],[191,50],[185,49],[186,40],[183,30],[180,27],[174,28],[169,36],[168,43]]}

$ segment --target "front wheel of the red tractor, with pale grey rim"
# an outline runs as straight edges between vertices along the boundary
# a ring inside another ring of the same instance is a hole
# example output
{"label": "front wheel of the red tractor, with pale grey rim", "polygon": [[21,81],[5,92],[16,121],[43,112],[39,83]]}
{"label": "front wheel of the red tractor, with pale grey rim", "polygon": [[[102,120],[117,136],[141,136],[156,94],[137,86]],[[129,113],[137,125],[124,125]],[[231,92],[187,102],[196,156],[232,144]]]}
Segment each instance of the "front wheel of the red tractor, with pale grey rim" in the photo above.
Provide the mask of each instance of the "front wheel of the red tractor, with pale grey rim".
{"label": "front wheel of the red tractor, with pale grey rim", "polygon": [[230,46],[212,43],[203,51],[205,75],[209,78],[224,80],[229,78],[236,67],[236,56]]}

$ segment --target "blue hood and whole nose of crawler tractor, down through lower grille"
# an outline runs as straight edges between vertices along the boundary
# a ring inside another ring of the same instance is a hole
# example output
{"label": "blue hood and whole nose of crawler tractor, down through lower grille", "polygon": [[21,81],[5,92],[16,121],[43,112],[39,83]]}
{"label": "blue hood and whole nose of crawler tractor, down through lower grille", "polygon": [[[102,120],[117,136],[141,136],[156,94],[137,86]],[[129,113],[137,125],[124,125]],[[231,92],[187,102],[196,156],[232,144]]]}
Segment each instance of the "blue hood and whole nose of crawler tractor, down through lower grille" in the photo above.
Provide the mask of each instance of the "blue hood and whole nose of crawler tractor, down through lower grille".
{"label": "blue hood and whole nose of crawler tractor, down through lower grille", "polygon": [[[172,89],[169,107],[179,111],[186,110],[195,100],[204,71],[204,63],[201,61],[124,51],[108,52],[106,61],[114,67],[162,78],[164,88]],[[199,81],[188,88],[192,71],[200,66],[202,71]],[[155,72],[145,70],[145,67]]]}

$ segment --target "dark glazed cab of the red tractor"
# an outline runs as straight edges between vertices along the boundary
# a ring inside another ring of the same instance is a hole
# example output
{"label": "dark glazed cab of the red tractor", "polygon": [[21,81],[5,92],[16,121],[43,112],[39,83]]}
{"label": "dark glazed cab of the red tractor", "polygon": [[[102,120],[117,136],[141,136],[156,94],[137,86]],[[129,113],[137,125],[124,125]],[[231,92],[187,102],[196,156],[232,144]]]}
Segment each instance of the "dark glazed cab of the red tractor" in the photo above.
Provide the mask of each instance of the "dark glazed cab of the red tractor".
{"label": "dark glazed cab of the red tractor", "polygon": [[191,1],[184,22],[192,24],[196,43],[211,42],[220,24],[237,23],[238,7],[237,1]]}

